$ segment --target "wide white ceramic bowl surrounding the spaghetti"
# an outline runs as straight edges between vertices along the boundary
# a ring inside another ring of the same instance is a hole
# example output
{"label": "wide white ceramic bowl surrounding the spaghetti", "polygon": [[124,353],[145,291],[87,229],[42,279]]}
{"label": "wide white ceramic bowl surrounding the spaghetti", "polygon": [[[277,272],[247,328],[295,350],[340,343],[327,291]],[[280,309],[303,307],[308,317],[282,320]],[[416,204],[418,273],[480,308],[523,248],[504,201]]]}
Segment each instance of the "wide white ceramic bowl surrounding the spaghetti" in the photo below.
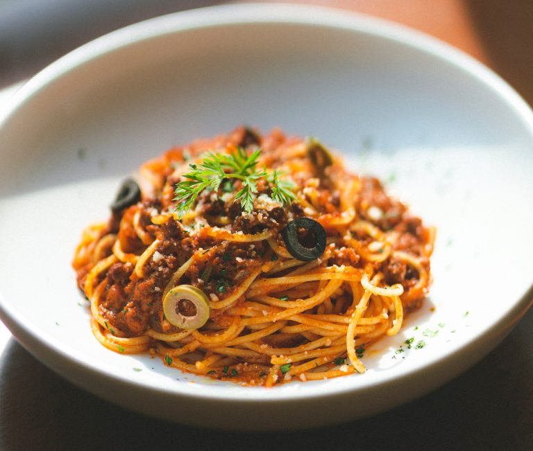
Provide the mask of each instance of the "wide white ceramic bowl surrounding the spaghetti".
{"label": "wide white ceramic bowl surrounding the spaghetti", "polygon": [[[142,161],[241,123],[318,136],[439,229],[430,298],[367,352],[363,375],[246,388],[92,337],[70,267],[83,227],[108,217]],[[146,414],[242,430],[373,414],[477,362],[530,305],[532,148],[513,89],[400,26],[299,6],[149,20],[44,69],[1,118],[0,314],[60,375]],[[396,353],[409,337],[426,346]]]}

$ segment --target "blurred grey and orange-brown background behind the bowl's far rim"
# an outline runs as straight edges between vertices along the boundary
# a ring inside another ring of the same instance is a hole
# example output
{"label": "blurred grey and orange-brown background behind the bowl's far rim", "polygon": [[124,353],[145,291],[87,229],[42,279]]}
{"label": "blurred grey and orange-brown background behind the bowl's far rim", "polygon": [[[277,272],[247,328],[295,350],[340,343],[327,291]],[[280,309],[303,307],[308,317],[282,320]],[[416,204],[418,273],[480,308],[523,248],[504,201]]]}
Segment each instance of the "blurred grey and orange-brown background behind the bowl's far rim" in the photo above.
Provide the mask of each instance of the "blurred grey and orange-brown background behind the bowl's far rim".
{"label": "blurred grey and orange-brown background behind the bowl's far rim", "polygon": [[[481,60],[533,105],[532,0],[279,2],[363,12],[417,28]],[[0,0],[0,89],[32,76],[77,46],[122,26],[170,12],[221,3],[251,2]]]}

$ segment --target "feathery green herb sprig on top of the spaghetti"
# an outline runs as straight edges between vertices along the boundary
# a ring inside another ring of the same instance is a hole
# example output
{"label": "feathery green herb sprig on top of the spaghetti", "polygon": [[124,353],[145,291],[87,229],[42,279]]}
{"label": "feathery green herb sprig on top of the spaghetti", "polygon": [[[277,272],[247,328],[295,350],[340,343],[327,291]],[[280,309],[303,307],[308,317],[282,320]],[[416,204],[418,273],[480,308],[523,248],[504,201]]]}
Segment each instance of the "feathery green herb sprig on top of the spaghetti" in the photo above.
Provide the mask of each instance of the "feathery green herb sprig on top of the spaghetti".
{"label": "feathery green herb sprig on top of the spaghetti", "polygon": [[178,201],[178,214],[181,216],[191,209],[198,195],[206,189],[217,191],[222,182],[225,182],[222,189],[228,190],[230,186],[227,182],[230,179],[242,182],[242,188],[235,194],[234,202],[239,202],[246,213],[253,210],[253,195],[257,193],[259,179],[266,179],[271,184],[271,197],[280,204],[290,204],[291,200],[296,200],[296,195],[291,191],[296,186],[289,180],[280,180],[278,170],[269,175],[267,170],[257,169],[260,154],[260,149],[247,155],[242,148],[237,148],[232,154],[210,153],[201,163],[189,164],[191,170],[183,175],[187,180],[179,182],[174,191],[174,200]]}

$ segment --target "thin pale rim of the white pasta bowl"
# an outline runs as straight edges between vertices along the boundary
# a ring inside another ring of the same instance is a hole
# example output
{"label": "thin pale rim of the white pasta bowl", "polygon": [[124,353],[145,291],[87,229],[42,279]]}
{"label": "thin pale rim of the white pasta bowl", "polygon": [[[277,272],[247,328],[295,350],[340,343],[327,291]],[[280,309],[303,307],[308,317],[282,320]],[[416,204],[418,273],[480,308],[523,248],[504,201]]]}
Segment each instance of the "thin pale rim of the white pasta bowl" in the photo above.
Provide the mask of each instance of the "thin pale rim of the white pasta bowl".
{"label": "thin pale rim of the white pasta bowl", "polygon": [[[384,19],[348,12],[346,10],[281,3],[229,4],[176,12],[148,19],[94,39],[92,42],[76,48],[74,51],[67,53],[67,55],[42,69],[42,71],[37,73],[31,80],[28,80],[28,82],[12,95],[6,107],[3,109],[3,113],[0,114],[0,136],[3,127],[12,116],[17,114],[17,110],[30,102],[40,91],[46,89],[50,83],[59,80],[71,71],[76,71],[78,67],[90,64],[96,58],[164,35],[176,35],[178,33],[186,33],[189,30],[244,24],[320,26],[373,35],[374,37],[388,39],[396,44],[409,46],[416,51],[426,53],[434,58],[439,58],[447,64],[451,64],[455,68],[475,78],[477,82],[482,83],[482,85],[491,90],[495,96],[498,96],[500,100],[507,103],[516,112],[517,118],[523,121],[533,136],[533,112],[525,100],[507,82],[502,80],[500,76],[491,71],[491,69],[485,67],[484,64],[457,48],[441,42],[439,39],[425,35],[425,33]],[[421,373],[432,371],[439,366],[449,365],[457,358],[465,359],[474,352],[477,352],[477,360],[479,360],[491,348],[489,347],[487,350],[484,350],[484,353],[474,350],[479,349],[481,343],[489,339],[492,339],[495,342],[494,346],[496,346],[499,339],[502,339],[510,330],[511,326],[516,324],[518,318],[527,311],[532,303],[533,283],[530,283],[526,286],[523,297],[514,301],[514,304],[507,310],[505,315],[492,321],[484,330],[469,337],[465,342],[457,346],[452,353],[439,355],[438,357],[428,357],[428,360],[423,364],[406,369],[399,375],[380,376],[366,381],[364,385],[359,387],[350,387],[349,384],[341,386],[330,385],[330,387],[323,386],[319,390],[314,389],[316,387],[308,387],[307,389],[303,387],[300,392],[294,393],[286,393],[279,388],[262,390],[251,387],[246,387],[242,390],[231,390],[228,393],[220,393],[217,392],[214,385],[210,386],[209,390],[204,391],[190,391],[185,385],[182,387],[182,384],[176,384],[172,389],[168,387],[156,387],[154,384],[145,380],[134,380],[127,378],[126,375],[117,371],[104,370],[99,366],[99,362],[96,359],[82,360],[76,357],[76,355],[65,351],[64,345],[60,340],[47,334],[37,335],[35,330],[31,330],[31,328],[26,326],[24,317],[19,315],[16,309],[10,306],[10,303],[4,299],[1,293],[0,317],[16,337],[22,338],[21,341],[23,343],[32,344],[32,346],[28,346],[29,350],[35,351],[37,357],[42,357],[45,363],[46,358],[43,356],[46,351],[53,351],[53,354],[56,357],[60,357],[65,364],[76,364],[76,366],[85,371],[96,373],[102,378],[115,380],[115,382],[121,384],[130,384],[144,391],[153,391],[178,397],[224,400],[239,403],[255,403],[257,401],[262,401],[262,403],[284,403],[296,399],[307,399],[310,396],[319,399],[331,395],[342,395],[348,392],[353,393],[364,389],[372,389],[381,384],[399,384],[407,380],[407,378],[413,378],[415,375],[419,376]],[[35,346],[35,344],[39,344],[40,346]],[[473,360],[471,364],[474,364],[477,360]],[[453,375],[455,374],[450,375],[448,379],[452,378]],[[68,377],[68,375],[64,376]]]}

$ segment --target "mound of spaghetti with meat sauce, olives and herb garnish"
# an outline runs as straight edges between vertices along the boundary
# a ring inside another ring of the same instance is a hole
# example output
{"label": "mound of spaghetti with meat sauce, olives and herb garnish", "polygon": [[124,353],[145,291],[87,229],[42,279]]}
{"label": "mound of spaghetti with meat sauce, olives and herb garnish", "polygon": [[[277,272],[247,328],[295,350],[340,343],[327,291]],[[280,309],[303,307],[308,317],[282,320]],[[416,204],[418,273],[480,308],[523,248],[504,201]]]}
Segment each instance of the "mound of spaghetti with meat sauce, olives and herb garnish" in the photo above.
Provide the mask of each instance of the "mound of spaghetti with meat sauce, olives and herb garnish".
{"label": "mound of spaghetti with meat sauce, olives and herb garnish", "polygon": [[76,249],[112,351],[272,387],[363,373],[431,281],[434,229],[316,139],[248,127],[127,179]]}

